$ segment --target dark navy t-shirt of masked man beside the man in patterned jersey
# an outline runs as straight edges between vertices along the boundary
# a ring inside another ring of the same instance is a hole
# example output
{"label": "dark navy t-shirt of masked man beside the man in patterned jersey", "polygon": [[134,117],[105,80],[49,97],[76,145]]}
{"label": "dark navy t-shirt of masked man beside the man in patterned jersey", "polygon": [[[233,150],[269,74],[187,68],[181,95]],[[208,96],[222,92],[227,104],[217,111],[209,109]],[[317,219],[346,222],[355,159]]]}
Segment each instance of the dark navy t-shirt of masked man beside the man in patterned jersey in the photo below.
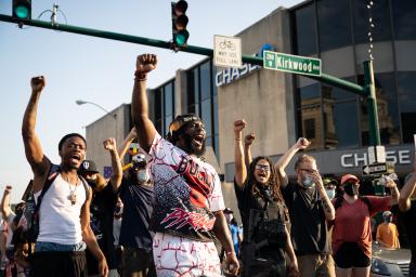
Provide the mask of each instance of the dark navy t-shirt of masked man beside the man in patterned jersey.
{"label": "dark navy t-shirt of masked man beside the man in patterned jersey", "polygon": [[153,212],[154,187],[131,184],[122,179],[119,188],[123,203],[119,245],[152,250],[154,233],[150,230]]}

